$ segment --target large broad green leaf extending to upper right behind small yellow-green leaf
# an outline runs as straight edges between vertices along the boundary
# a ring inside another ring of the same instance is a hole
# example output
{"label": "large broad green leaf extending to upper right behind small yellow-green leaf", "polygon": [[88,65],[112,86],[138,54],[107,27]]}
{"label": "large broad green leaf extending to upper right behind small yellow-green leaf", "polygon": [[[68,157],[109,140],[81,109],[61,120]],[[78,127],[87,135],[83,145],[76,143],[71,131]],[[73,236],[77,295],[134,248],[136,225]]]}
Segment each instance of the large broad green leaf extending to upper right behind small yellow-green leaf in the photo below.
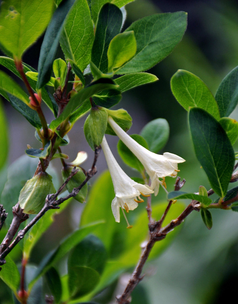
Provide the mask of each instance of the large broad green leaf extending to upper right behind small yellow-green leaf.
{"label": "large broad green leaf extending to upper right behind small yellow-green leaf", "polygon": [[137,20],[126,31],[134,31],[136,55],[117,74],[141,72],[164,59],[182,39],[187,26],[187,13],[155,14]]}

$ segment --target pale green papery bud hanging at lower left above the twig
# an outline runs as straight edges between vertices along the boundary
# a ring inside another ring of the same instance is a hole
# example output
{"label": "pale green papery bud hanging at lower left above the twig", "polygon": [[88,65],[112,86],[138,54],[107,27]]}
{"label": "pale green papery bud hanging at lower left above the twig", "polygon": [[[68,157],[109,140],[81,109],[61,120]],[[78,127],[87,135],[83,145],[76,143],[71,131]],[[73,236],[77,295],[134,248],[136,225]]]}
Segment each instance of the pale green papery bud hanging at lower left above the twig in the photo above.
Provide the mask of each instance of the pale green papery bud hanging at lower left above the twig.
{"label": "pale green papery bud hanging at lower left above the twig", "polygon": [[46,196],[55,193],[51,176],[40,172],[29,179],[19,195],[19,205],[24,213],[37,214],[45,204]]}

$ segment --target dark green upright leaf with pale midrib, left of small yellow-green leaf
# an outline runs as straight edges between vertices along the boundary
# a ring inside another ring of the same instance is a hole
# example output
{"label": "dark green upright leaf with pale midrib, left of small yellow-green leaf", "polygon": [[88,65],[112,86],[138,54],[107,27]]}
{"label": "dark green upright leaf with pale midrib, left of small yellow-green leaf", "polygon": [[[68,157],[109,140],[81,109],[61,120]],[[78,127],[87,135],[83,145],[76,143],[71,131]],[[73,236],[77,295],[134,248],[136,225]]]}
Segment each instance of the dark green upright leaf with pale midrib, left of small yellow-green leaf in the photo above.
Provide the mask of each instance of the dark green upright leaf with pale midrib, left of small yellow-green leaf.
{"label": "dark green upright leaf with pale midrib, left of small yellow-green leaf", "polygon": [[113,4],[102,6],[96,26],[95,39],[92,46],[91,61],[102,73],[108,71],[107,51],[113,37],[120,33],[122,12]]}

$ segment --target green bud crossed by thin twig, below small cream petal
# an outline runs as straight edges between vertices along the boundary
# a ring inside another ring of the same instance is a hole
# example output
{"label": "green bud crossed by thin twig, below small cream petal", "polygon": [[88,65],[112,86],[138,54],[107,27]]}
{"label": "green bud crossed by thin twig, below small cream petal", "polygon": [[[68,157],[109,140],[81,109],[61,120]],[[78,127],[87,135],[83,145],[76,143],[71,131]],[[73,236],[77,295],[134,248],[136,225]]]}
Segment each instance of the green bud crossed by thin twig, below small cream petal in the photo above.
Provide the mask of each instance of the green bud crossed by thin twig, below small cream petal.
{"label": "green bud crossed by thin twig, below small cream petal", "polygon": [[[66,189],[68,190],[69,193],[71,193],[74,188],[77,188],[79,185],[81,185],[86,178],[83,170],[80,167],[76,167],[76,169],[78,169],[78,172],[71,177],[71,179],[66,185]],[[66,166],[62,169],[62,177],[64,181],[66,181],[66,179],[69,177],[72,170],[73,170],[72,166]],[[88,186],[87,184],[85,184],[83,188],[78,192],[78,194],[74,196],[74,199],[76,199],[80,203],[83,203],[85,202],[87,193],[88,193]]]}

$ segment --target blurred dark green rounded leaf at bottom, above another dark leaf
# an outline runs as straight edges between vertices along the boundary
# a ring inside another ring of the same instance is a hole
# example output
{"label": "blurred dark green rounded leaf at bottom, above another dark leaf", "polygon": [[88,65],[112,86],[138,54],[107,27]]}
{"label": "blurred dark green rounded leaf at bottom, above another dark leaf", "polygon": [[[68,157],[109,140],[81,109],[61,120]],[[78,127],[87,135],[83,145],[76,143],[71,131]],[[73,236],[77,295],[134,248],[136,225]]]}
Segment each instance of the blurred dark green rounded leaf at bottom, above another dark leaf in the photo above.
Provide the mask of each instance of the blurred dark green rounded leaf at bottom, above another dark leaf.
{"label": "blurred dark green rounded leaf at bottom, above another dark leaf", "polygon": [[74,266],[86,266],[102,273],[107,253],[100,239],[90,234],[74,247],[68,258],[68,274],[74,272]]}

